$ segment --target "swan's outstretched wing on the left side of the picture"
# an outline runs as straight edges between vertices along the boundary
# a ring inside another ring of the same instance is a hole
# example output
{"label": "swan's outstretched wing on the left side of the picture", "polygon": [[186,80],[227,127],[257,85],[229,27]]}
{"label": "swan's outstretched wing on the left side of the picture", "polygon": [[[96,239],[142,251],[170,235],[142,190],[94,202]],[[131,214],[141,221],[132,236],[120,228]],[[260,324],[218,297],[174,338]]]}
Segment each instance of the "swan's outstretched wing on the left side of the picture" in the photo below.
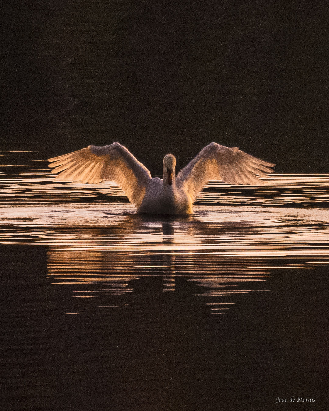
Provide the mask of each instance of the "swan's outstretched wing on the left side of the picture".
{"label": "swan's outstretched wing on the left side of the picture", "polygon": [[151,174],[127,148],[119,143],[97,147],[89,145],[78,151],[50,158],[55,180],[98,183],[115,181],[129,201],[139,207]]}

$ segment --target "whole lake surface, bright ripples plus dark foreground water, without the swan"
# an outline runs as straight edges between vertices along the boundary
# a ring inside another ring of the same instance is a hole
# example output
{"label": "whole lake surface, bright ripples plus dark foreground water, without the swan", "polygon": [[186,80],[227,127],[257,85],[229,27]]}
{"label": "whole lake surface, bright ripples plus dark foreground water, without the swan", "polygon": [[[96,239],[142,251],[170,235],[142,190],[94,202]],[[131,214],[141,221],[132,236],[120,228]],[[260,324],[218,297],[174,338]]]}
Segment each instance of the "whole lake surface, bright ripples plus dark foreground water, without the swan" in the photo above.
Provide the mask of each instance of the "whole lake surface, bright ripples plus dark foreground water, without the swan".
{"label": "whole lake surface, bright ripples plus dark foreground water, without the swan", "polygon": [[3,409],[325,409],[329,175],[147,217],[37,152],[0,162]]}

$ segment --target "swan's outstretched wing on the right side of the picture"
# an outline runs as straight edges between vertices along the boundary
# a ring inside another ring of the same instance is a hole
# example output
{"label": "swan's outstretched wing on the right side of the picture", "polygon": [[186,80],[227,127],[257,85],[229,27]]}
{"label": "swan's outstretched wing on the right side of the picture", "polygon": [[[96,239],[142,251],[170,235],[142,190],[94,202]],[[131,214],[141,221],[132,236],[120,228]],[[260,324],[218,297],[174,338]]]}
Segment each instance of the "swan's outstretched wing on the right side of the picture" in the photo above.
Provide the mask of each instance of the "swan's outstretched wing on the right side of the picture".
{"label": "swan's outstretched wing on the right side of the picture", "polygon": [[228,184],[261,184],[257,175],[273,173],[275,164],[253,157],[236,147],[217,143],[206,145],[199,154],[177,174],[194,201],[209,180],[223,180]]}

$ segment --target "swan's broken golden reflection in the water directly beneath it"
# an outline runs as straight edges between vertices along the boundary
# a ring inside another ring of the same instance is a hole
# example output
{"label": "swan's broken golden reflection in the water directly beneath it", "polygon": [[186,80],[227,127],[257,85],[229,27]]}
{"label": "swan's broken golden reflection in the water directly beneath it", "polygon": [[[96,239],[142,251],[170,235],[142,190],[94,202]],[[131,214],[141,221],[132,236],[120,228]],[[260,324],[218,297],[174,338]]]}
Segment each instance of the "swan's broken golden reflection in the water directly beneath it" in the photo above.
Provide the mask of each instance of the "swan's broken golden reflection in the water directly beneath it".
{"label": "swan's broken golden reflection in the water directly beneath it", "polygon": [[75,297],[134,293],[136,282],[143,278],[144,284],[153,283],[154,291],[156,284],[156,293],[186,289],[204,298],[214,314],[221,314],[234,303],[234,295],[264,289],[259,283],[268,277],[268,271],[255,269],[249,259],[236,261],[214,253],[223,236],[241,230],[246,227],[231,226],[220,232],[213,224],[191,217],[130,215],[107,229],[71,231],[70,241],[60,236],[48,249],[48,273],[53,283],[79,286]]}

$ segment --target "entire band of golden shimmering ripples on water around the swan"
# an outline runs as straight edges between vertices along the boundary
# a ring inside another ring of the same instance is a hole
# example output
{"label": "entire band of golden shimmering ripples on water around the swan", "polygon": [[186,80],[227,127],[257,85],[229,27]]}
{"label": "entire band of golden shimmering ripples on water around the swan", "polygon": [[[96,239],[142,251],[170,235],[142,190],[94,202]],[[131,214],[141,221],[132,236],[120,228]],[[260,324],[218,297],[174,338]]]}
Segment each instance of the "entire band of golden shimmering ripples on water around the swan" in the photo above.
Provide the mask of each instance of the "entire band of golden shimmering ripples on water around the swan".
{"label": "entire band of golden shimmering ripples on water around the swan", "polygon": [[41,159],[15,166],[13,155],[4,153],[13,169],[0,180],[0,240],[46,247],[51,281],[79,286],[74,297],[124,295],[143,277],[175,292],[179,279],[222,314],[237,294],[268,292],[273,268],[328,263],[329,175],[274,174],[263,187],[212,181],[194,216],[150,218],[113,183],[54,183]]}

